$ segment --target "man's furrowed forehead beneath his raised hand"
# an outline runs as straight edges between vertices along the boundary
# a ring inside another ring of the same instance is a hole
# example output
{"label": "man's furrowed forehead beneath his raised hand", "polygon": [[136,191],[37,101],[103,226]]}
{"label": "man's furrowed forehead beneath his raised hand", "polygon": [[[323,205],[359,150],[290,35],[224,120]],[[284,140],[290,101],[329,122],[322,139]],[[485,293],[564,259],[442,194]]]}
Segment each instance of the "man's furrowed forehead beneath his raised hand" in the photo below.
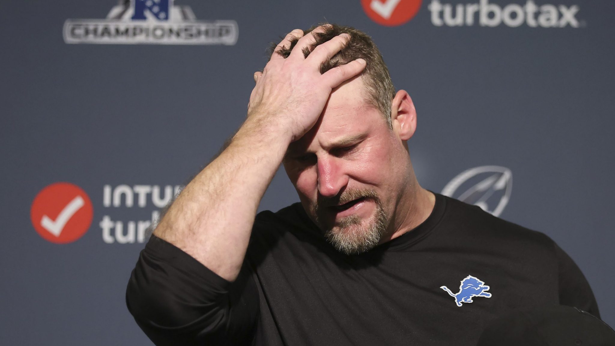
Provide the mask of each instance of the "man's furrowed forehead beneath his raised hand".
{"label": "man's furrowed forehead beneath his raised hand", "polygon": [[386,121],[368,101],[362,78],[355,77],[331,92],[317,124],[289,149],[305,151],[328,147],[352,136],[368,135],[381,126],[386,126]]}

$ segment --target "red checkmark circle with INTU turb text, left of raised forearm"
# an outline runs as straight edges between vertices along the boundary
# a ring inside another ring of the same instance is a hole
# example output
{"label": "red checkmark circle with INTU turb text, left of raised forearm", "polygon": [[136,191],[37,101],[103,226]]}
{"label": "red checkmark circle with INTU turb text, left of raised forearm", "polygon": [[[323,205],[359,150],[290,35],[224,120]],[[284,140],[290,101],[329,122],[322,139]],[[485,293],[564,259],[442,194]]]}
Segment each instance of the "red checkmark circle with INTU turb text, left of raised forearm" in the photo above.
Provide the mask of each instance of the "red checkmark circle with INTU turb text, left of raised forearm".
{"label": "red checkmark circle with INTU turb text, left of raised forearm", "polygon": [[[103,186],[102,209],[98,209],[104,213],[98,222],[103,241],[107,244],[145,242],[149,231],[156,228],[159,209],[169,205],[181,189],[181,185],[106,184]],[[125,211],[134,208],[141,211],[132,211],[130,215],[144,216],[143,211],[146,211],[148,219],[125,219]],[[85,235],[92,225],[93,214],[90,196],[81,187],[65,182],[44,187],[30,207],[34,230],[45,240],[57,244],[72,243]]]}

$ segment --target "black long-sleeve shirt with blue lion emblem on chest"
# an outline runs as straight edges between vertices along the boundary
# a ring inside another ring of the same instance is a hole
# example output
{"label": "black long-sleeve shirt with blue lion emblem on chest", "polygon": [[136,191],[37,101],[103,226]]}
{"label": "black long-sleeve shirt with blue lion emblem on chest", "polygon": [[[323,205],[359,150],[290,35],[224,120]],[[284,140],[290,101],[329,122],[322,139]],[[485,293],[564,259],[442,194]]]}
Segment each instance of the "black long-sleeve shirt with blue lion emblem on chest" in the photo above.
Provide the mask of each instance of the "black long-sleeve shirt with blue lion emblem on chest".
{"label": "black long-sleeve shirt with blue lion emblem on chest", "polygon": [[563,304],[599,317],[581,270],[546,235],[436,195],[416,229],[347,256],[302,206],[258,214],[229,282],[152,237],[127,305],[162,345],[475,345],[485,324]]}

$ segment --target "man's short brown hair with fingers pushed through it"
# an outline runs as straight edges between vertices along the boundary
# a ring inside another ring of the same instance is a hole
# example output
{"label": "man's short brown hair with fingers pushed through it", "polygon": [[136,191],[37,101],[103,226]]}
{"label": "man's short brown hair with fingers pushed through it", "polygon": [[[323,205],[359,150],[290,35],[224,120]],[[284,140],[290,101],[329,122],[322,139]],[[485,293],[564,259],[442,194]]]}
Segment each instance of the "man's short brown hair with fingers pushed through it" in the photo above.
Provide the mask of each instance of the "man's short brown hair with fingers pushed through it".
{"label": "man's short brown hair with fingers pushed through it", "polygon": [[[312,28],[304,30],[304,33],[310,33],[317,27],[312,26]],[[333,55],[330,60],[325,61],[320,66],[320,73],[325,73],[336,66],[347,64],[358,58],[365,59],[367,66],[365,66],[361,76],[363,76],[363,82],[365,83],[366,96],[368,101],[383,113],[387,123],[390,125],[391,100],[395,96],[395,87],[391,81],[391,76],[389,76],[389,69],[384,64],[383,57],[370,36],[350,26],[328,24],[323,31],[314,32],[316,41],[310,49],[304,49],[303,54],[308,57],[314,47],[343,33],[350,35],[346,47]],[[273,44],[269,48],[269,53],[270,55],[276,53],[287,58],[297,41],[298,39],[293,39],[289,47],[284,47],[284,49],[278,49],[277,51],[276,44]]]}

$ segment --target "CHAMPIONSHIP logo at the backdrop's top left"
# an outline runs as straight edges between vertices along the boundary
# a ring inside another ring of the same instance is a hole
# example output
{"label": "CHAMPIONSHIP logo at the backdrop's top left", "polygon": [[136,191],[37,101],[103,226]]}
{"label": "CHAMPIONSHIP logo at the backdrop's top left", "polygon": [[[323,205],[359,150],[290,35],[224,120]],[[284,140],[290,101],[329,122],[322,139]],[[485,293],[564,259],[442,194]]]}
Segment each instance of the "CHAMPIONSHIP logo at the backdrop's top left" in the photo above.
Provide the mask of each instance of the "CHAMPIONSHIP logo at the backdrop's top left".
{"label": "CHAMPIONSHIP logo at the backdrop's top left", "polygon": [[234,45],[239,28],[234,20],[196,20],[173,0],[120,0],[106,19],[66,20],[63,34],[68,44]]}

